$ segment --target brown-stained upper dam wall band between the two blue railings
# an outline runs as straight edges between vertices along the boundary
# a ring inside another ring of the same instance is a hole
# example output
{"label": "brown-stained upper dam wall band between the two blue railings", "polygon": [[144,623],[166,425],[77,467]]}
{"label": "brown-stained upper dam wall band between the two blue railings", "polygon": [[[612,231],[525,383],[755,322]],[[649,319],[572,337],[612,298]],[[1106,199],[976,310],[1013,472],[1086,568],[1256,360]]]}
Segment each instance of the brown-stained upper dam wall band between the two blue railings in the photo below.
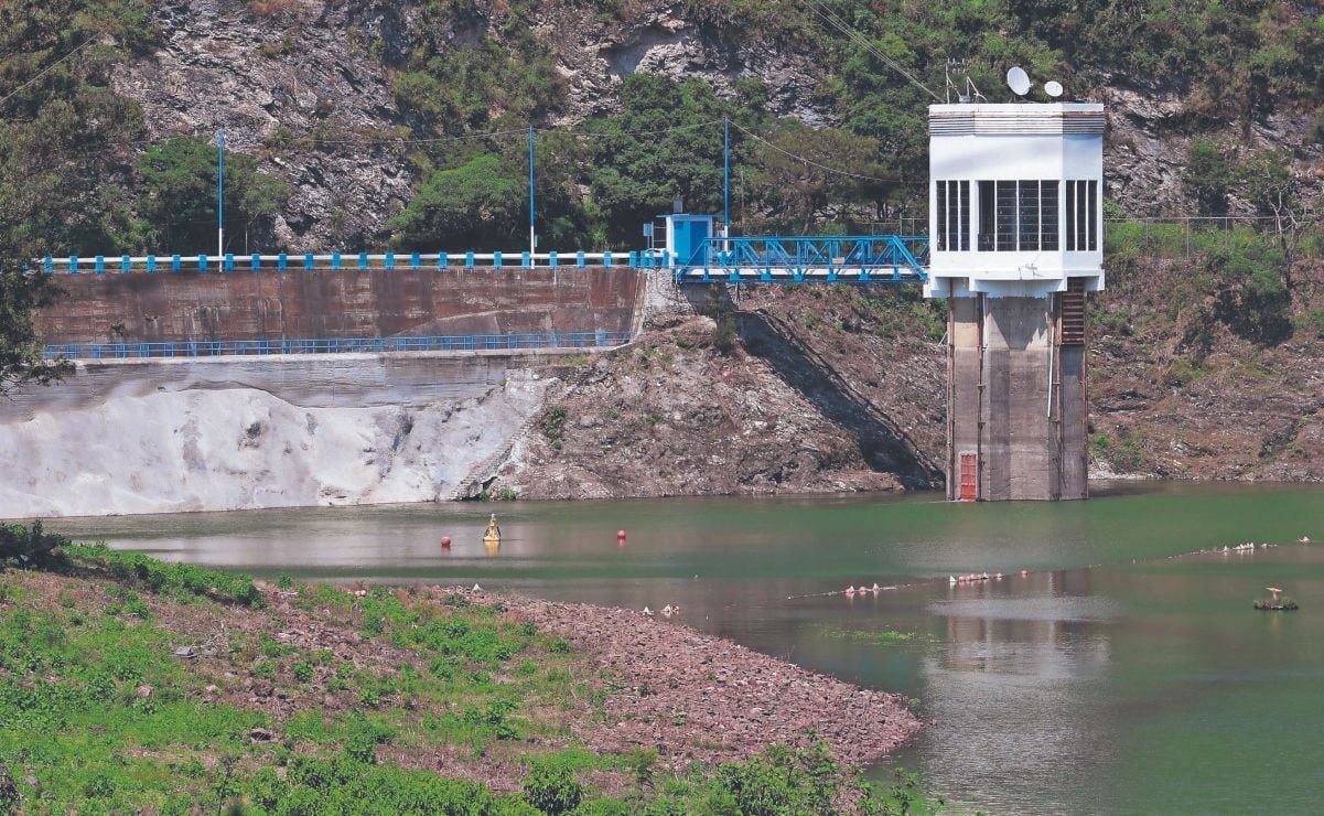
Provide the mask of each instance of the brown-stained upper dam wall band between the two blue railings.
{"label": "brown-stained upper dam wall band between the two blue railings", "polygon": [[38,315],[37,332],[46,343],[114,343],[628,331],[639,277],[617,268],[60,276],[68,297]]}

